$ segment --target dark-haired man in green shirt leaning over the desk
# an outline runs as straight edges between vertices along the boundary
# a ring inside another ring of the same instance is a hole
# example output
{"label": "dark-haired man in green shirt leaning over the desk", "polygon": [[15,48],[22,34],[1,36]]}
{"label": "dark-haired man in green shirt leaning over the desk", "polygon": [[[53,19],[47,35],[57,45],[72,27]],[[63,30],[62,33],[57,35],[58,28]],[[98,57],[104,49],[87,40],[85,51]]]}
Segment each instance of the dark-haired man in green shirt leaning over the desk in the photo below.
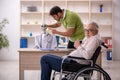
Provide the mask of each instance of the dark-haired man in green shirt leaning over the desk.
{"label": "dark-haired man in green shirt leaning over the desk", "polygon": [[59,34],[69,37],[67,48],[74,48],[74,42],[76,40],[82,40],[84,38],[84,27],[80,17],[69,10],[61,9],[58,6],[51,8],[49,13],[57,22],[55,24],[47,25],[47,27],[57,28],[61,24],[66,29],[65,32],[52,29],[53,34]]}

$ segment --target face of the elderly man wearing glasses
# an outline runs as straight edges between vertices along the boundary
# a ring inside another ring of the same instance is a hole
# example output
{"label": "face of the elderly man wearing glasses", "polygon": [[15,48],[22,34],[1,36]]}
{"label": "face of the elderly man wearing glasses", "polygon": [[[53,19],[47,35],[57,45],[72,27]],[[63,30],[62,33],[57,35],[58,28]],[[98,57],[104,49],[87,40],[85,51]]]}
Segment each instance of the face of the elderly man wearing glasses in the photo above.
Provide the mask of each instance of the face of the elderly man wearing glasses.
{"label": "face of the elderly man wearing glasses", "polygon": [[85,28],[85,35],[86,37],[91,37],[94,36],[98,33],[98,31],[95,29],[95,26],[93,26],[92,24],[89,24],[86,28]]}

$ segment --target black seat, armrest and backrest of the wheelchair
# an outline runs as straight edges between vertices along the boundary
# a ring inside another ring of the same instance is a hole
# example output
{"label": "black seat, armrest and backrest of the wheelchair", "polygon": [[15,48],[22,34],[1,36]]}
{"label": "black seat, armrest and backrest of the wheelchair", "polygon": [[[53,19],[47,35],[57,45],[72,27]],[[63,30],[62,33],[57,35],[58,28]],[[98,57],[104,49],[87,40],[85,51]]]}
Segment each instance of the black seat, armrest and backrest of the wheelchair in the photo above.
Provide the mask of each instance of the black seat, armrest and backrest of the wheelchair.
{"label": "black seat, armrest and backrest of the wheelchair", "polygon": [[96,61],[97,61],[97,58],[98,58],[98,56],[100,54],[100,51],[101,51],[101,46],[99,46],[96,49],[96,51],[94,52],[92,58],[89,59],[89,60],[86,60],[85,58],[81,58],[81,57],[68,56],[68,58],[71,58],[71,59],[79,59],[79,60],[83,60],[83,61],[88,61],[89,64],[79,64],[76,61],[72,61],[70,63],[63,62],[62,70],[63,71],[70,71],[70,72],[76,72],[76,71],[80,70],[81,68],[94,66]]}

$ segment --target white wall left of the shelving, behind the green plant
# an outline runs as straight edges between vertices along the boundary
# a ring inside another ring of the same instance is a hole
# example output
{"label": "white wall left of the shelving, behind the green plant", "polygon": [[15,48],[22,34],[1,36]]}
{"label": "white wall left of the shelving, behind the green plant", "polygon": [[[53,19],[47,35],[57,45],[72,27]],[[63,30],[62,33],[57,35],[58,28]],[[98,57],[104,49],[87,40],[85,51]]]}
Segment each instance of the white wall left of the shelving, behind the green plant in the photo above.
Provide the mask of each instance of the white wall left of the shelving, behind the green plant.
{"label": "white wall left of the shelving, behind the green plant", "polygon": [[0,0],[0,21],[3,18],[9,20],[9,24],[3,30],[7,35],[10,46],[0,50],[0,60],[18,60],[19,49],[19,0]]}

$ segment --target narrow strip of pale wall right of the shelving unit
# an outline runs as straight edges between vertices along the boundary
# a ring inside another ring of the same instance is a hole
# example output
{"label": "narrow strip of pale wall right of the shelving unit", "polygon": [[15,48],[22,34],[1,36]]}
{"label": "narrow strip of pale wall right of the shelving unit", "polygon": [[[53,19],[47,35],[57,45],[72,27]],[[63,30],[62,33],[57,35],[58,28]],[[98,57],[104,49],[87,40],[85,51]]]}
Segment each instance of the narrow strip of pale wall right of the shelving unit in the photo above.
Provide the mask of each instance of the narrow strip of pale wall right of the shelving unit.
{"label": "narrow strip of pale wall right of the shelving unit", "polygon": [[120,60],[120,0],[114,2],[114,26],[113,26],[113,59]]}

